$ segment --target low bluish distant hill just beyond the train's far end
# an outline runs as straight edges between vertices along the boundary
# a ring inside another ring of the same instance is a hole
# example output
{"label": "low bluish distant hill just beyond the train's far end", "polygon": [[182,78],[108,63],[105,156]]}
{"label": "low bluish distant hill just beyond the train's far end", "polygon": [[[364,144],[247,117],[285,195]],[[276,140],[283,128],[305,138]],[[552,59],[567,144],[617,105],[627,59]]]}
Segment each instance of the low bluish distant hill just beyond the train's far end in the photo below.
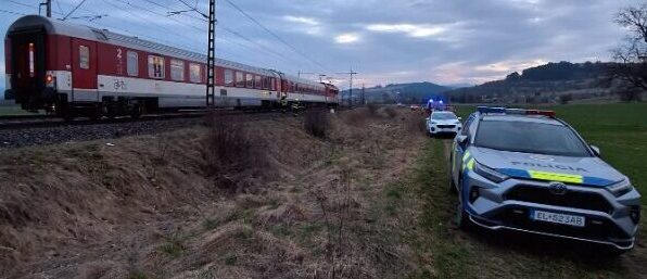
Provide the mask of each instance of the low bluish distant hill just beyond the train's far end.
{"label": "low bluish distant hill just beyond the train's far end", "polygon": [[[367,103],[423,103],[430,98],[437,98],[451,90],[448,87],[432,83],[393,84],[377,86],[364,89],[364,98]],[[350,90],[342,91],[344,100],[348,100]],[[361,88],[353,89],[354,102],[361,99]]]}

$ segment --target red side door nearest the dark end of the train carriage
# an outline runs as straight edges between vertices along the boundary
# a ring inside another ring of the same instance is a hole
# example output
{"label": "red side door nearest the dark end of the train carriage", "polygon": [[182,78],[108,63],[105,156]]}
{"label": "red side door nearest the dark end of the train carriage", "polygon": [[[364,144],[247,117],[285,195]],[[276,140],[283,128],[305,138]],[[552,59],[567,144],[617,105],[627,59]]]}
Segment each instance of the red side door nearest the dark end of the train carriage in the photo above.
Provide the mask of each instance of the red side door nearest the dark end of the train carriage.
{"label": "red side door nearest the dark end of the train carriage", "polygon": [[72,92],[75,102],[98,102],[97,42],[72,39]]}

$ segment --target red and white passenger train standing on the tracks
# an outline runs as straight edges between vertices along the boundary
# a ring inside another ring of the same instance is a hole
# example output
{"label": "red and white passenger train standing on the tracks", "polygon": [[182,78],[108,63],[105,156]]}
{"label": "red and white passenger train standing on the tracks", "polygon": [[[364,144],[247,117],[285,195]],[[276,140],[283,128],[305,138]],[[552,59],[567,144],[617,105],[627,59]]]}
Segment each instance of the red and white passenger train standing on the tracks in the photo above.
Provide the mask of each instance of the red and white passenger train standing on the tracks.
{"label": "red and white passenger train standing on the tracks", "polygon": [[[5,99],[64,118],[205,107],[206,55],[59,20],[27,15],[4,40]],[[217,59],[220,107],[339,104],[339,89]],[[282,101],[284,99],[286,101]]]}

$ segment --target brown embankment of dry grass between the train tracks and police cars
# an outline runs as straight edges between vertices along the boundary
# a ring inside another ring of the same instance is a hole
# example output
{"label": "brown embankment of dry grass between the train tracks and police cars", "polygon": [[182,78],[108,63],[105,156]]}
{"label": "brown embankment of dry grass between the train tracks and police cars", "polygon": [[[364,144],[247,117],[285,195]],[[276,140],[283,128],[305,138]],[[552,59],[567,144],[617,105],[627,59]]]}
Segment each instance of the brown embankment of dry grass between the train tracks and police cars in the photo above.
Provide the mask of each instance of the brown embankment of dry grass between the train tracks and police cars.
{"label": "brown embankment of dry grass between the train tracks and police cars", "polygon": [[401,193],[390,189],[423,141],[420,115],[343,112],[325,138],[302,122],[244,124],[238,161],[215,151],[231,139],[213,127],[0,154],[0,278],[399,278],[417,268],[397,244],[415,214],[395,214]]}

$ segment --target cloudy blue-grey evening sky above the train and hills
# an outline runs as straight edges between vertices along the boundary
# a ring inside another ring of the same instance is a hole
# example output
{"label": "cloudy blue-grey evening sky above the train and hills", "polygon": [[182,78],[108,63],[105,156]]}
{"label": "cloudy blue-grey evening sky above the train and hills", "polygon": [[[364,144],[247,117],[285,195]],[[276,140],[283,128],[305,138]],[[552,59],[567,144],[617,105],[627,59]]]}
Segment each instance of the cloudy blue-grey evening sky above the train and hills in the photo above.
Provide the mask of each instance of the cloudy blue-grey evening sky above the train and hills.
{"label": "cloudy blue-grey evening sky above the train and hills", "polygon": [[[63,17],[81,0],[53,0]],[[207,0],[198,2],[206,11]],[[357,84],[403,81],[480,84],[550,61],[607,61],[623,30],[620,8],[645,0],[230,0],[280,42],[217,0],[217,56],[317,79]],[[38,13],[40,0],[0,0],[0,30]],[[149,11],[145,11],[145,10]],[[107,28],[175,47],[205,51],[206,23],[180,0],[87,0],[69,22]],[[88,21],[87,16],[104,15]],[[240,35],[240,36],[239,36]],[[3,48],[3,46],[1,47]],[[307,58],[306,58],[307,56]],[[0,72],[4,71],[1,58]],[[4,78],[4,75],[2,77]],[[0,80],[3,84],[3,80]]]}

